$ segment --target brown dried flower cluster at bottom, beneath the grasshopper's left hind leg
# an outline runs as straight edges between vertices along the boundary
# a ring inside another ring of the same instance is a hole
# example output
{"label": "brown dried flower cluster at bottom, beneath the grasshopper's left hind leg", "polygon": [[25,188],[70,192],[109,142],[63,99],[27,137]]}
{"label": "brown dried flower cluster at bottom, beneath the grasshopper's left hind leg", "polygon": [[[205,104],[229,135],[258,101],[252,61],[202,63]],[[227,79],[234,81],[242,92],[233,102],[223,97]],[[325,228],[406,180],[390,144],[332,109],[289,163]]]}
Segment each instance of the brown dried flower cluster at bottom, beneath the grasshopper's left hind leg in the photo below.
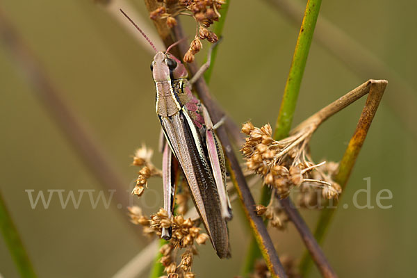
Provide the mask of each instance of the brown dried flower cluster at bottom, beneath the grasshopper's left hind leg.
{"label": "brown dried flower cluster at bottom, beneath the grasshopper's left hind leg", "polygon": [[[163,255],[161,263],[165,267],[167,277],[194,277],[191,266],[193,257],[197,254],[195,243],[198,245],[206,243],[208,235],[201,233],[201,229],[196,227],[193,220],[190,218],[184,219],[182,215],[168,218],[167,212],[163,208],[147,218],[138,206],[129,208],[129,216],[133,224],[144,226],[143,232],[149,236],[161,237],[162,228],[172,227],[172,238],[159,250]],[[186,251],[181,255],[181,262],[177,265],[176,251],[182,248],[185,248]]]}

